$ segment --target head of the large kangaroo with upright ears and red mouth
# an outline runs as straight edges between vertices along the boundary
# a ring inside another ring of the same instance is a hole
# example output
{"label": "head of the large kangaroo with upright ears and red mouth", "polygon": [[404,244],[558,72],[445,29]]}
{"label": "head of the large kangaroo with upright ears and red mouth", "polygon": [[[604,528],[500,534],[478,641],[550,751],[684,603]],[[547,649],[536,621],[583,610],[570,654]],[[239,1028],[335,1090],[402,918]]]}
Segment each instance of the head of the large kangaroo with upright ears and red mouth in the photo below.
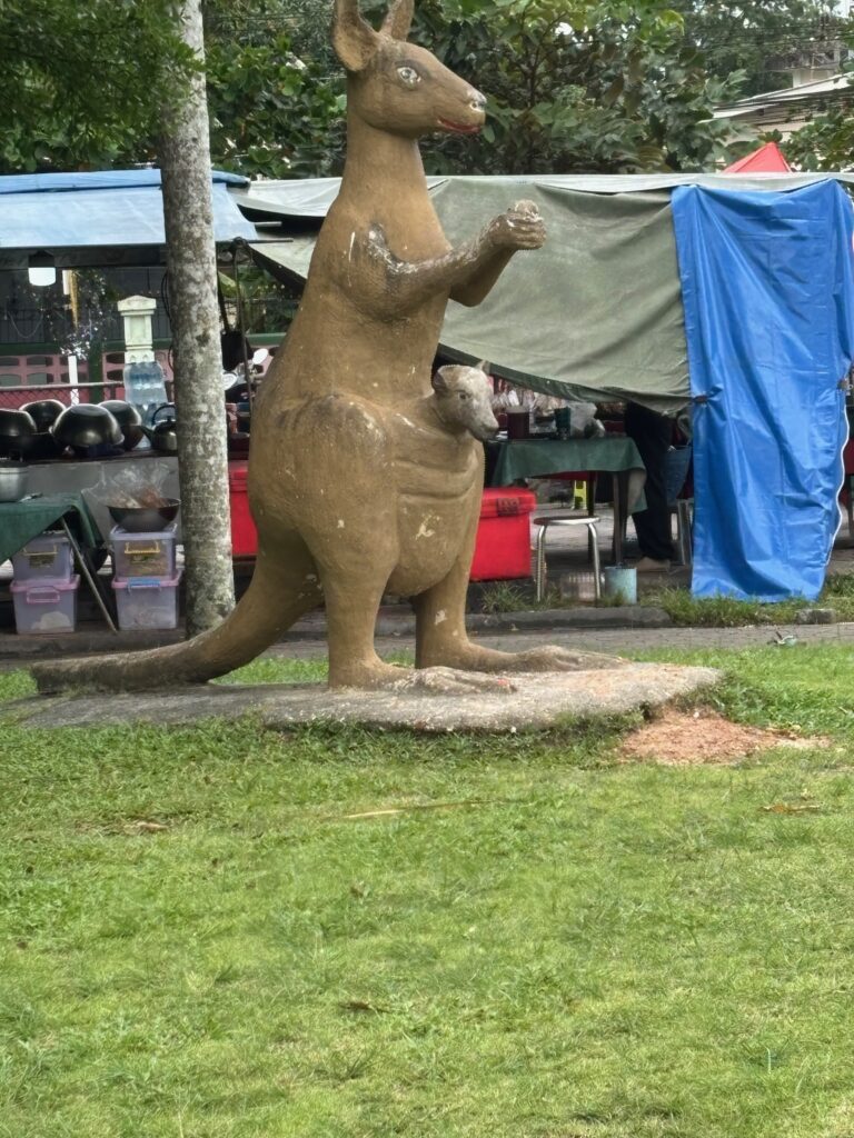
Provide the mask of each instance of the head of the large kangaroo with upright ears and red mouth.
{"label": "head of the large kangaroo with upright ears and red mouth", "polygon": [[376,130],[405,138],[433,131],[473,134],[486,99],[424,48],[407,43],[412,0],[393,0],[379,32],[358,0],[335,0],[332,46],[347,68],[347,110]]}

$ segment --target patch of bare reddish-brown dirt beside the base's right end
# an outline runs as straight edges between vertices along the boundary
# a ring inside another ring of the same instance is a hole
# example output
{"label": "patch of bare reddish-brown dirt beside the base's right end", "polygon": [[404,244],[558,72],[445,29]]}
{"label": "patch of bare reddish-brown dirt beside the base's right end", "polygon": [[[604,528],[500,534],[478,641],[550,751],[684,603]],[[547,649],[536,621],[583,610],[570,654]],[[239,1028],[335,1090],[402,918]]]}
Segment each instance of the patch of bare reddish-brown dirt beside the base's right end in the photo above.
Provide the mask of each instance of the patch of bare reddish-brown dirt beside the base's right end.
{"label": "patch of bare reddish-brown dirt beside the base's right end", "polygon": [[704,762],[738,762],[772,747],[828,747],[829,740],[804,737],[779,728],[747,727],[730,723],[716,711],[678,711],[667,708],[660,717],[629,735],[621,748],[626,760],[696,766]]}

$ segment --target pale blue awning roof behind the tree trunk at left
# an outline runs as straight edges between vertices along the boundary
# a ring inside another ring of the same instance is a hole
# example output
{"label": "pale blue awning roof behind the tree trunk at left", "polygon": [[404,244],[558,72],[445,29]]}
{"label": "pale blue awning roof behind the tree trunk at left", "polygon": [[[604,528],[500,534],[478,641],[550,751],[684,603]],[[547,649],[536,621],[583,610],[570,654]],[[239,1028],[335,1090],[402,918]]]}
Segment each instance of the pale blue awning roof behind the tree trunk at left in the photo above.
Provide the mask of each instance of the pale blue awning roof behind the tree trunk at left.
{"label": "pale blue awning roof behind the tree trunk at left", "polygon": [[[236,174],[213,174],[214,239],[252,239],[229,193],[245,185]],[[0,178],[0,267],[23,267],[27,254],[44,249],[60,267],[150,264],[165,245],[159,170]]]}

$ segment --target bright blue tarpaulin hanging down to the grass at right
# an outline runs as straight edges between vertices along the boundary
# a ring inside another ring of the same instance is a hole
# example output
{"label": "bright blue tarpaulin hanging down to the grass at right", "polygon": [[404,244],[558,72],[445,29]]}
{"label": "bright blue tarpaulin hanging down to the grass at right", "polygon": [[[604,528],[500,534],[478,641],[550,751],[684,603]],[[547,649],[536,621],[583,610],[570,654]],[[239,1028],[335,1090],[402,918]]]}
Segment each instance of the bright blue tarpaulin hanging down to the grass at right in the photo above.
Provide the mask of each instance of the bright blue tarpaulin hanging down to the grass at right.
{"label": "bright blue tarpaulin hanging down to the grass at right", "polygon": [[852,204],[673,193],[693,401],[697,596],[814,600],[839,526],[854,347]]}

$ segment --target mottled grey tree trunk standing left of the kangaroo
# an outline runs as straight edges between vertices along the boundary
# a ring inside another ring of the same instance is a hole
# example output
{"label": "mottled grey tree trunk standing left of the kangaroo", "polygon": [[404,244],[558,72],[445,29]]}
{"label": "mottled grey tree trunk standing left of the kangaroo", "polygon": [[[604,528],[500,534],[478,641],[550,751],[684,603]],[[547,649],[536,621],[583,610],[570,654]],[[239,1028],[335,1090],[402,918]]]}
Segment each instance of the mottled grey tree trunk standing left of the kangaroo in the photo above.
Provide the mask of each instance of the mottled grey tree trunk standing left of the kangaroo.
{"label": "mottled grey tree trunk standing left of the kangaroo", "polygon": [[[204,59],[200,0],[183,0],[181,32]],[[187,632],[219,624],[235,604],[228,452],[204,73],[164,108],[158,140],[178,411]]]}

